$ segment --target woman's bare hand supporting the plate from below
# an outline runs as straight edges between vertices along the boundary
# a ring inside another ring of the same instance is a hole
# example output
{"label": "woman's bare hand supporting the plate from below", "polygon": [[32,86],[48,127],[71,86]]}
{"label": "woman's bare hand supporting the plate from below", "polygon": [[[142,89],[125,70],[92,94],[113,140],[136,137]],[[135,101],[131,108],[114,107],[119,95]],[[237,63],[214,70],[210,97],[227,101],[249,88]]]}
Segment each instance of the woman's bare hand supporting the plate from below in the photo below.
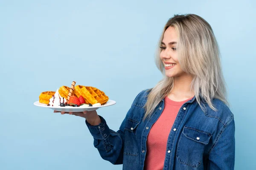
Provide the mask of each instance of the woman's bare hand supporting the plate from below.
{"label": "woman's bare hand supporting the plate from below", "polygon": [[99,115],[96,111],[84,111],[84,112],[60,112],[60,111],[54,111],[54,113],[61,113],[61,114],[72,114],[75,116],[83,117],[87,120],[87,122],[90,125],[99,125],[101,122],[101,119],[99,118]]}

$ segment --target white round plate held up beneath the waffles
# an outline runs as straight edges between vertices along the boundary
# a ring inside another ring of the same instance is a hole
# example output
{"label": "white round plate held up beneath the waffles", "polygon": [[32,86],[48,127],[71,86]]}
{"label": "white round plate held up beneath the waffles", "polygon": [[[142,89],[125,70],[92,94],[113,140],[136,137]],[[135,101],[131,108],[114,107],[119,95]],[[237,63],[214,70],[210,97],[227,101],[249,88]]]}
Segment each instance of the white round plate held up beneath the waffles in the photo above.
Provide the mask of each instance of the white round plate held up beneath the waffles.
{"label": "white round plate held up beneath the waffles", "polygon": [[104,105],[101,106],[89,106],[89,107],[73,107],[73,106],[65,106],[65,107],[61,107],[61,106],[47,106],[47,104],[44,103],[39,103],[39,101],[34,102],[34,105],[39,106],[39,107],[43,107],[43,108],[50,108],[54,111],[65,111],[65,112],[83,112],[83,111],[95,111],[98,108],[103,108],[103,107],[107,107],[107,106],[111,106],[116,104],[115,101],[113,100],[108,100],[107,103],[105,103]]}

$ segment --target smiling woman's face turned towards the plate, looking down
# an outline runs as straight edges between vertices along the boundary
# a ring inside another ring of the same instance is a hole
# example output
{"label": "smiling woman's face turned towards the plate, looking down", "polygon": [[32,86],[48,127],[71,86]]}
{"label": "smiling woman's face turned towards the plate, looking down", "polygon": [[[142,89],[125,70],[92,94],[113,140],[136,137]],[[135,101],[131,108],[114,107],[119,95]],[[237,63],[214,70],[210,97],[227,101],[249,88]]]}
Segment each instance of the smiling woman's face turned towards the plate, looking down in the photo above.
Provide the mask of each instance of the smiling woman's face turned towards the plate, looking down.
{"label": "smiling woman's face turned towards the plate, looking down", "polygon": [[174,27],[169,27],[163,34],[163,41],[160,48],[160,58],[165,66],[165,74],[167,77],[177,77],[185,74],[181,69],[177,59],[177,40],[178,34]]}

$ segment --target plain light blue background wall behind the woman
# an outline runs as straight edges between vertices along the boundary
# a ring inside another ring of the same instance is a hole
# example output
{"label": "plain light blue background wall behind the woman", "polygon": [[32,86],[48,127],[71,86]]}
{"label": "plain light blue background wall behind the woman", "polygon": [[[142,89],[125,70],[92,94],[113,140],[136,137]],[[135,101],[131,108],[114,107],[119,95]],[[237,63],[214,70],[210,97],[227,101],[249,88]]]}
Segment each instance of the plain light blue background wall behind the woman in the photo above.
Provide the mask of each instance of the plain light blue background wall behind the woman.
{"label": "plain light blue background wall behind the woman", "polygon": [[33,105],[42,91],[95,86],[118,130],[135,96],[162,78],[154,53],[173,14],[198,14],[218,40],[236,122],[236,170],[255,157],[255,1],[0,0],[0,170],[120,170],[101,159],[84,119]]}

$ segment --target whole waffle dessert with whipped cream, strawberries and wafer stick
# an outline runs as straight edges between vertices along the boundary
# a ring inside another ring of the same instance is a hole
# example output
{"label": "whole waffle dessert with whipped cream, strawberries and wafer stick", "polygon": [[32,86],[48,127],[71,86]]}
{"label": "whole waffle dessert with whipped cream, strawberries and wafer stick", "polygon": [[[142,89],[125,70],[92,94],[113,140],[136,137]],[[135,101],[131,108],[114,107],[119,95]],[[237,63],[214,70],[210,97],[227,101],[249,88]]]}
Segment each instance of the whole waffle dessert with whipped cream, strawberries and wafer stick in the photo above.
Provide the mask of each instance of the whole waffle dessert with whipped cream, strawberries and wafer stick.
{"label": "whole waffle dessert with whipped cream, strawberries and wafer stick", "polygon": [[61,86],[57,91],[45,91],[39,95],[39,102],[47,106],[90,107],[100,106],[108,102],[108,96],[98,88],[76,85]]}

